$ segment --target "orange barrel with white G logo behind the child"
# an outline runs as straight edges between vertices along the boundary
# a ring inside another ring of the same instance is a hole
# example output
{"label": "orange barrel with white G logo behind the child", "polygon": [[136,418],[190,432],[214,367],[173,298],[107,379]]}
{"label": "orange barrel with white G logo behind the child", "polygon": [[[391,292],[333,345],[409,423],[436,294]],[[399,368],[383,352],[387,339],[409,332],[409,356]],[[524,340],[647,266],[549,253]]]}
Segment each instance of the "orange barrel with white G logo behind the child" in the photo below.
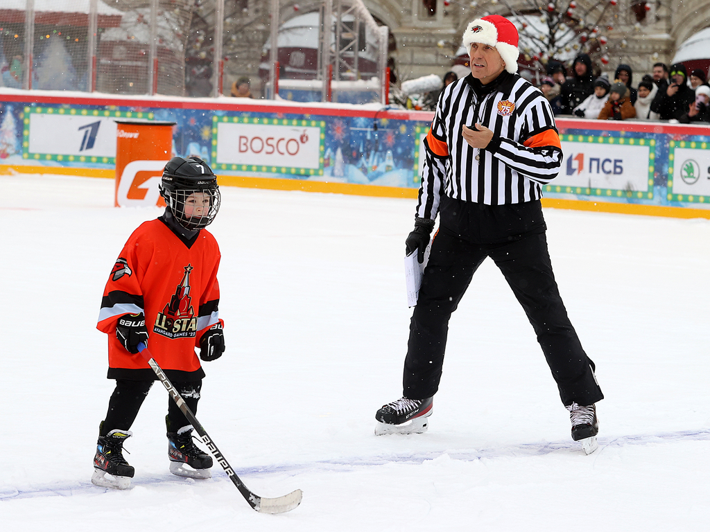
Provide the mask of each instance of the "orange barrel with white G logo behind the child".
{"label": "orange barrel with white G logo behind the child", "polygon": [[175,122],[116,120],[115,206],[165,206],[158,180],[173,156],[173,126]]}

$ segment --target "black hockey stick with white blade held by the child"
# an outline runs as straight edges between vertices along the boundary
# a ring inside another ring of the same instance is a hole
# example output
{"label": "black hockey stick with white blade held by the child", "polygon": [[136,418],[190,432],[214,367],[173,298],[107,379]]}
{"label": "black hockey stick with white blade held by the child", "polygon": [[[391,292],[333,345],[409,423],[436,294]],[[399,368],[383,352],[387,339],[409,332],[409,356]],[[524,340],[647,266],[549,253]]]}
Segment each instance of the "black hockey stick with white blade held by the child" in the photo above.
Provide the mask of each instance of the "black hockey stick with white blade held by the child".
{"label": "black hockey stick with white blade held by the child", "polygon": [[143,342],[139,343],[138,351],[141,353],[141,355],[143,355],[143,358],[146,359],[148,364],[151,365],[153,371],[155,372],[155,375],[158,375],[158,379],[160,379],[160,382],[163,383],[165,389],[168,390],[170,397],[173,397],[173,400],[176,404],[178,404],[178,408],[180,408],[182,414],[185,414],[187,421],[190,421],[192,426],[195,427],[195,431],[197,431],[197,433],[200,435],[200,438],[202,438],[204,444],[207,445],[207,449],[209,450],[209,452],[214,455],[214,458],[217,460],[217,462],[219,462],[219,465],[222,466],[226,474],[231,479],[231,482],[234,482],[236,489],[239,489],[239,493],[241,493],[241,496],[246,499],[246,501],[249,503],[249,506],[251,506],[256,511],[261,512],[262,514],[283,514],[286,511],[293,510],[296,506],[301,504],[301,497],[303,497],[303,492],[301,492],[300,489],[296,489],[294,492],[290,492],[288,495],[283,495],[282,497],[275,497],[274,499],[259,497],[258,495],[251,492],[249,488],[244,485],[244,482],[241,482],[239,477],[236,476],[236,473],[231,468],[231,465],[229,465],[229,462],[226,461],[226,458],[224,458],[224,455],[217,448],[217,445],[214,445],[214,441],[212,441],[212,438],[210,438],[207,435],[207,432],[204,431],[204,428],[202,428],[200,421],[197,421],[195,414],[192,414],[192,410],[190,410],[190,407],[187,406],[185,400],[182,399],[178,390],[176,390],[170,380],[168,380],[168,377],[165,375],[165,372],[160,369],[158,362],[155,362],[155,359],[151,355],[151,352],[148,351],[148,347],[146,346],[146,344]]}

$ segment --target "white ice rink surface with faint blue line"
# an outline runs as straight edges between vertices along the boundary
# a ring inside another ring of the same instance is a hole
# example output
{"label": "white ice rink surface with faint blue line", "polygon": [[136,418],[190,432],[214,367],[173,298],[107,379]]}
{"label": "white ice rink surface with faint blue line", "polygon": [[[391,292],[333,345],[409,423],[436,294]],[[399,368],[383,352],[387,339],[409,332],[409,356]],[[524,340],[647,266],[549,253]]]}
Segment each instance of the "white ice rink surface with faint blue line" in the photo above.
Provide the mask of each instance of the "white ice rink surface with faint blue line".
{"label": "white ice rink surface with faint blue line", "polygon": [[706,531],[710,221],[546,209],[557,282],[606,395],[586,456],[532,328],[488,260],[450,323],[427,433],[373,436],[401,395],[415,200],[222,188],[226,353],[197,417],[263,497],[168,472],[156,384],[125,492],[94,487],[113,381],[95,328],[133,229],[107,179],[0,176],[3,531]]}

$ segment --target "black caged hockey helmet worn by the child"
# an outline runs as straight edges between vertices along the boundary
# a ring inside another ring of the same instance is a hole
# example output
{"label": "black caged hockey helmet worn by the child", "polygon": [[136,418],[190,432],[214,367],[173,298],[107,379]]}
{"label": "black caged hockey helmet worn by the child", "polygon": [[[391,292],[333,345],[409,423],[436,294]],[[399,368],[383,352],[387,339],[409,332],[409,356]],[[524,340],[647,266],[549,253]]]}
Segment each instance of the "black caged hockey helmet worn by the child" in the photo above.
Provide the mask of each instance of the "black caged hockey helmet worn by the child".
{"label": "black caged hockey helmet worn by the child", "polygon": [[217,216],[220,203],[217,176],[198,157],[170,159],[158,189],[170,213],[187,231],[207,227]]}

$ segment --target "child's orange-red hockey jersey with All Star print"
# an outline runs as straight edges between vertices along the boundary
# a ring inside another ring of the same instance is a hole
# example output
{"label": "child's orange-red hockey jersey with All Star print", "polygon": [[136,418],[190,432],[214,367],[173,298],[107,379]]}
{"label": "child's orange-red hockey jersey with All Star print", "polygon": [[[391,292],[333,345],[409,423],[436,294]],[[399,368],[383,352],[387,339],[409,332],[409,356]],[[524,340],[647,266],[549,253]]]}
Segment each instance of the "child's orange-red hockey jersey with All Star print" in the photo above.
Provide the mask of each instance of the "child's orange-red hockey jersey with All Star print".
{"label": "child's orange-red hockey jersey with All Star print", "polygon": [[116,338],[118,318],[139,312],[146,316],[148,348],[163,370],[204,375],[195,347],[207,328],[221,322],[219,259],[217,240],[204,229],[191,243],[160,219],[133,231],[109,276],[97,324],[109,336],[109,378],[148,375],[126,370],[153,374],[140,354],[131,355]]}

